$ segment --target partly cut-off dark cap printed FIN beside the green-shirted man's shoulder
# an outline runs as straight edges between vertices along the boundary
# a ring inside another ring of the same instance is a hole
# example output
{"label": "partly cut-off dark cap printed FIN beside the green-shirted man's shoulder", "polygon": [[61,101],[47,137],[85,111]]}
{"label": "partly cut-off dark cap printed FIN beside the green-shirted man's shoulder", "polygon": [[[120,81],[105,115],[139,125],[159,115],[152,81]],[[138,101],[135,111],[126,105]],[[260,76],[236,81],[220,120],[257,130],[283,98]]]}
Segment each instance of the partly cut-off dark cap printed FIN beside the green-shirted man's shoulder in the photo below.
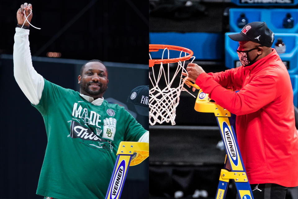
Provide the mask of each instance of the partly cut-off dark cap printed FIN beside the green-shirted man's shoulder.
{"label": "partly cut-off dark cap printed FIN beside the green-shirted man's shoulder", "polygon": [[149,116],[149,86],[134,88],[130,92],[127,102],[134,104],[139,114]]}

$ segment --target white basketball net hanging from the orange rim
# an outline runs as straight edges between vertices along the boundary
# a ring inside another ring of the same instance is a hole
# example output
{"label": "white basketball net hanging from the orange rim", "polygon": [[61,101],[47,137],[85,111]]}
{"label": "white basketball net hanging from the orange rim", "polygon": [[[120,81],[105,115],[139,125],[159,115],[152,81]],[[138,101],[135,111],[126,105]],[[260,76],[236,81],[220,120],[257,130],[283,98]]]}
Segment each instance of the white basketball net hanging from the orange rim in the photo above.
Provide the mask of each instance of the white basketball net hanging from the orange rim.
{"label": "white basketball net hanging from the orange rim", "polygon": [[[164,56],[165,50],[168,51],[168,58],[169,58],[168,49],[164,49],[162,57]],[[181,51],[180,57],[182,53],[183,51]],[[185,56],[186,56],[186,53],[185,53]],[[149,53],[149,57],[151,59],[150,53]],[[192,61],[195,59],[195,57],[191,57],[191,58],[193,58]],[[176,71],[174,72],[174,75],[173,75],[174,70],[172,66],[173,64],[161,63],[159,68],[158,66],[151,67],[152,72],[149,72],[149,80],[151,81],[151,84],[153,87],[149,90],[149,109],[150,109],[149,124],[150,125],[155,125],[156,122],[160,124],[163,122],[166,122],[166,123],[171,122],[172,125],[175,125],[176,107],[179,104],[180,93],[182,90],[187,91],[185,88],[183,88],[184,81],[181,75],[181,72],[187,73],[186,69],[184,68],[184,64],[185,64],[185,61],[178,62],[178,66]],[[159,71],[154,71],[154,69],[155,70],[157,69]],[[157,72],[158,72],[158,75],[156,75]],[[174,86],[173,83],[176,85]],[[178,86],[177,86],[177,83],[178,83]],[[160,88],[159,84],[160,86],[163,86],[163,87]],[[165,87],[164,87],[164,84],[165,84]]]}

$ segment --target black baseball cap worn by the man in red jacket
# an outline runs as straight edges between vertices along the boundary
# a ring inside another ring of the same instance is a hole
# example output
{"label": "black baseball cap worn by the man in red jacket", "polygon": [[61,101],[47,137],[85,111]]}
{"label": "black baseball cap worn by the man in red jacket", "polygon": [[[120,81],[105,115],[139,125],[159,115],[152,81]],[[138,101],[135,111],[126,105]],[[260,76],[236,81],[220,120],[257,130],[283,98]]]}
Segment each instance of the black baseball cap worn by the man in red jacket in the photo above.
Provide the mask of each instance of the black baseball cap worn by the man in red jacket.
{"label": "black baseball cap worn by the man in red jacket", "polygon": [[240,33],[228,36],[234,41],[252,41],[266,47],[271,47],[274,41],[274,33],[260,21],[248,23]]}

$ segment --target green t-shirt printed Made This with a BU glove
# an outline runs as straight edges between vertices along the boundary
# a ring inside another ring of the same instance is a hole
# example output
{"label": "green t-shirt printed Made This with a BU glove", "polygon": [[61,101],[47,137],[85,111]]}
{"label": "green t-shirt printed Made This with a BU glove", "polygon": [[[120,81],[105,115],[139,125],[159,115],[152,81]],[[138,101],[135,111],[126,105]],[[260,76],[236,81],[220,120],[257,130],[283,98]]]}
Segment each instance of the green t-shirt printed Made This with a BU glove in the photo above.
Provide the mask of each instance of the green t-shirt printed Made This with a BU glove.
{"label": "green t-shirt printed Made This with a BU glove", "polygon": [[118,104],[94,105],[71,89],[44,80],[36,109],[47,149],[36,194],[58,199],[105,198],[120,141],[146,130]]}

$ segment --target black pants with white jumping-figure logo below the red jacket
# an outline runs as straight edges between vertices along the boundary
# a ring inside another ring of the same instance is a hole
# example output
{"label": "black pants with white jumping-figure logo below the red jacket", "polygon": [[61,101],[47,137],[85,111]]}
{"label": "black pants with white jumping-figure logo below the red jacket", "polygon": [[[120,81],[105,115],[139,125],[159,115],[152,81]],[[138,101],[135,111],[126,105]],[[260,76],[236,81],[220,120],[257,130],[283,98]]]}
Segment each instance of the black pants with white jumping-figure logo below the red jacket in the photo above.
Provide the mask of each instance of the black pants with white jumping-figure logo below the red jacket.
{"label": "black pants with white jumping-figure logo below the red jacket", "polygon": [[[288,187],[278,184],[251,184],[254,199],[285,199]],[[237,195],[237,199],[239,199]]]}

